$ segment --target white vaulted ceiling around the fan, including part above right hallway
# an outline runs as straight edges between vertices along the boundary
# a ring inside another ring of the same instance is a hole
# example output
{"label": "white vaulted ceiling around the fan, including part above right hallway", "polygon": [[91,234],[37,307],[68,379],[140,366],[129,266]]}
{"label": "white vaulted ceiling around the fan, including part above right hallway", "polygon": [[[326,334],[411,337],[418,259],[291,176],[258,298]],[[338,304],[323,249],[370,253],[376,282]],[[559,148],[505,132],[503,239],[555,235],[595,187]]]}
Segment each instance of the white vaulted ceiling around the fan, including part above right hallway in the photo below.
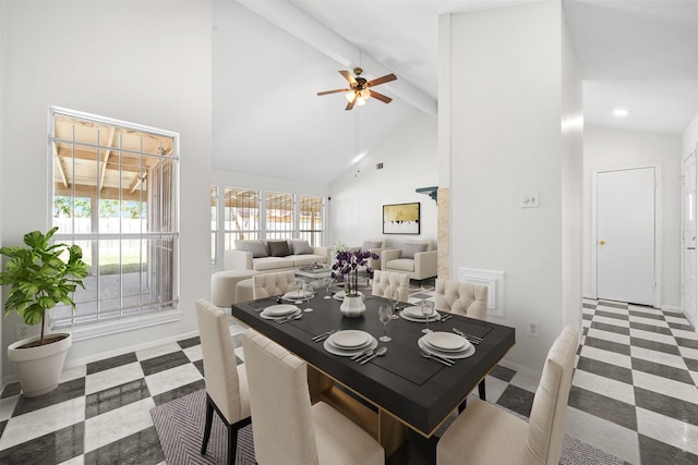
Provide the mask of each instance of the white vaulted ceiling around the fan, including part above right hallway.
{"label": "white vaulted ceiling around the fan, including part above right hallway", "polygon": [[[216,169],[329,183],[418,112],[436,114],[438,15],[530,0],[214,2]],[[563,0],[585,123],[681,134],[698,113],[698,0]],[[345,111],[338,70],[395,73]],[[629,114],[611,114],[616,107]],[[357,134],[357,123],[359,131]],[[358,142],[358,149],[357,149]]]}

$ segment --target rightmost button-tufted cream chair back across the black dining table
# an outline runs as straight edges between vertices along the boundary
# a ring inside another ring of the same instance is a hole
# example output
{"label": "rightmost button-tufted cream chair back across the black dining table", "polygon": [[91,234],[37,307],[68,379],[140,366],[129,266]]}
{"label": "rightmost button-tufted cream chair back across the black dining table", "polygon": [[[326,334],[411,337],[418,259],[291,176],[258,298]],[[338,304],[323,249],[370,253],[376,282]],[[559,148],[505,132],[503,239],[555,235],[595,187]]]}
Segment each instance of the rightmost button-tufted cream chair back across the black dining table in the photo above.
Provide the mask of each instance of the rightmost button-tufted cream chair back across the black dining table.
{"label": "rightmost button-tufted cream chair back across the black dining table", "polygon": [[465,281],[436,279],[434,308],[486,320],[488,286]]}

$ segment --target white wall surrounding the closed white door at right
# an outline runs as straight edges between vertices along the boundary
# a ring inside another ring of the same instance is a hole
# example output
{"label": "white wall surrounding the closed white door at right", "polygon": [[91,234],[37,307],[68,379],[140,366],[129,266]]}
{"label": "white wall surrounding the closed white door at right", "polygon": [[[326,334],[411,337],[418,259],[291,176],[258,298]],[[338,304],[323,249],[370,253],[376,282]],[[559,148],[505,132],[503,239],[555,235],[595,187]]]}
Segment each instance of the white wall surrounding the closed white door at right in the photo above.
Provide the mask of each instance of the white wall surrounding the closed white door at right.
{"label": "white wall surrounding the closed white door at right", "polygon": [[662,306],[681,307],[681,152],[678,135],[585,127],[583,293],[591,295],[591,176],[601,168],[660,164],[662,170]]}

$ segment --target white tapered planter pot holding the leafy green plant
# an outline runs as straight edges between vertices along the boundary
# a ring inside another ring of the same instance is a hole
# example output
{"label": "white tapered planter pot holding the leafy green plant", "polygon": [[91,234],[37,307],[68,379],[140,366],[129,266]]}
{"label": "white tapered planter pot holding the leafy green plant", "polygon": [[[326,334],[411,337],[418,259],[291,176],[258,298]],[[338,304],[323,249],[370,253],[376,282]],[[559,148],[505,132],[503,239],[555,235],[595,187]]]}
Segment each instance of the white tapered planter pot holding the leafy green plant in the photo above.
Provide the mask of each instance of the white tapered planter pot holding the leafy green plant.
{"label": "white tapered planter pot holding the leafy green plant", "polygon": [[51,344],[39,345],[29,348],[17,348],[26,343],[38,341],[40,336],[23,339],[8,347],[8,358],[17,367],[22,394],[27,397],[36,397],[51,392],[58,387],[58,381],[63,370],[65,354],[73,339],[70,333],[50,333],[47,336],[65,335],[60,341]]}

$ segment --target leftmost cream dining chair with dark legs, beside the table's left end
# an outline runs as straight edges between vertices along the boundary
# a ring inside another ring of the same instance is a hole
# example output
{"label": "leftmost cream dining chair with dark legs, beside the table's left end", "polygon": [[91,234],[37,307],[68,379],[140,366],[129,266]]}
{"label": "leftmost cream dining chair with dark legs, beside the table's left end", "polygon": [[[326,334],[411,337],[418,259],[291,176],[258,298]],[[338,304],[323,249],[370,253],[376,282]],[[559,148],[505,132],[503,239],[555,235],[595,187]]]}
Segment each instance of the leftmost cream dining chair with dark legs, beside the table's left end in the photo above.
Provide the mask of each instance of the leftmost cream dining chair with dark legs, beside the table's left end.
{"label": "leftmost cream dining chair with dark legs, beside the table's left end", "polygon": [[206,382],[206,424],[201,453],[206,453],[214,411],[228,428],[228,464],[236,461],[238,430],[251,423],[248,374],[238,366],[228,315],[207,301],[196,301],[196,320]]}

